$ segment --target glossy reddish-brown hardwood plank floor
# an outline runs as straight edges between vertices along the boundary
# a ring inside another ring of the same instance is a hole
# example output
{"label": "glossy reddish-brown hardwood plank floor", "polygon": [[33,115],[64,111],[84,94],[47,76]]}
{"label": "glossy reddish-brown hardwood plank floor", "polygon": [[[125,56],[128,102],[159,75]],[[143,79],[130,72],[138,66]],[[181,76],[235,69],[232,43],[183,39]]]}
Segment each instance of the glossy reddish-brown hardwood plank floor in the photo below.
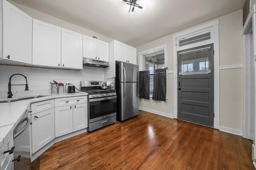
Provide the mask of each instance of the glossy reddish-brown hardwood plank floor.
{"label": "glossy reddish-brown hardwood plank floor", "polygon": [[146,111],[58,142],[32,169],[254,169],[252,141]]}

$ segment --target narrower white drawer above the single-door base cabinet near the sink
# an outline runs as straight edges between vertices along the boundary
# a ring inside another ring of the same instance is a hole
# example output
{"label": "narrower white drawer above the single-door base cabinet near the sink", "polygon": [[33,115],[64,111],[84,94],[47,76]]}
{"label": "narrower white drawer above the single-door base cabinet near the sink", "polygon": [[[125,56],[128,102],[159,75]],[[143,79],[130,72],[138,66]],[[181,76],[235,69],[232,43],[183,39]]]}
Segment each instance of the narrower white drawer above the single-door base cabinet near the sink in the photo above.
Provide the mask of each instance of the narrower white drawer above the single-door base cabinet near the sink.
{"label": "narrower white drawer above the single-door base cabinet near the sink", "polygon": [[54,99],[31,104],[32,114],[54,108]]}

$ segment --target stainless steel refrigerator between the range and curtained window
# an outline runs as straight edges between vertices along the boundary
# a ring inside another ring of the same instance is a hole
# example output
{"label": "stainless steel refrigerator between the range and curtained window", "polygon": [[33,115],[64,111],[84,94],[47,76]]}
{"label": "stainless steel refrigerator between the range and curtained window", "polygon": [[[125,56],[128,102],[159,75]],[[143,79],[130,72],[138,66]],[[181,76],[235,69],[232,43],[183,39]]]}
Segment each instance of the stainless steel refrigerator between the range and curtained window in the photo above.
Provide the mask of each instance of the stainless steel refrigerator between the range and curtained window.
{"label": "stainless steel refrigerator between the range and curtained window", "polygon": [[139,114],[139,66],[116,62],[116,119],[122,122]]}

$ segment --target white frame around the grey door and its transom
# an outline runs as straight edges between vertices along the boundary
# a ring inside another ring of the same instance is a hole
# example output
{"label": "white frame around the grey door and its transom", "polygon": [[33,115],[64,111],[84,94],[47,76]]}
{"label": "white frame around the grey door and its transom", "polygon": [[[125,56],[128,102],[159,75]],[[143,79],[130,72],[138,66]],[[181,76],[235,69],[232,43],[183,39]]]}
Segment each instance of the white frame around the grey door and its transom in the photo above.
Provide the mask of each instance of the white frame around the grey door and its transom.
{"label": "white frame around the grey door and its transom", "polygon": [[[186,49],[190,49],[196,46],[206,45],[214,43],[214,128],[220,129],[220,53],[219,53],[219,20],[214,20],[191,29],[176,33],[173,35],[173,68],[174,68],[174,118],[178,118],[178,92],[177,92],[177,39],[178,37],[191,34],[206,28],[213,30],[213,38],[210,41],[202,41],[193,45],[187,45]],[[195,46],[196,45],[196,46]],[[180,49],[178,50],[180,51]]]}

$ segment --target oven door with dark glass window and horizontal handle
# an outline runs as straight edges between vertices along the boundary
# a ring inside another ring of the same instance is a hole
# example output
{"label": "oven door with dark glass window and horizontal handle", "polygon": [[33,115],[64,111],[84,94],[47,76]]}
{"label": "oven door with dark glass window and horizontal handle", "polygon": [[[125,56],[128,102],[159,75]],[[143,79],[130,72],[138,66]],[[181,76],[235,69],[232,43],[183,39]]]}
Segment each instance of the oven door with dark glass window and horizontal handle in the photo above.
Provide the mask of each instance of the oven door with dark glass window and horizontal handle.
{"label": "oven door with dark glass window and horizontal handle", "polygon": [[116,115],[117,96],[89,99],[89,123]]}

